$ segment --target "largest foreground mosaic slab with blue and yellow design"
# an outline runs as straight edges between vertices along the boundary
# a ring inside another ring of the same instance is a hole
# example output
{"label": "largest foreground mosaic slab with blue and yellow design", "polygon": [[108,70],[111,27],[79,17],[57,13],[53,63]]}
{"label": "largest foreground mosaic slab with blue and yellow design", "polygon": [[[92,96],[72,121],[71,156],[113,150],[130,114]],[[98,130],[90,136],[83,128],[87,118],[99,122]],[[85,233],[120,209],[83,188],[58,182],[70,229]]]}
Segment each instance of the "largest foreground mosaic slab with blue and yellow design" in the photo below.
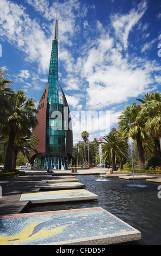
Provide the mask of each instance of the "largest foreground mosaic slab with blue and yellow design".
{"label": "largest foreground mosaic slab with blue and yellow design", "polygon": [[141,239],[140,231],[101,207],[0,219],[0,245],[111,245]]}

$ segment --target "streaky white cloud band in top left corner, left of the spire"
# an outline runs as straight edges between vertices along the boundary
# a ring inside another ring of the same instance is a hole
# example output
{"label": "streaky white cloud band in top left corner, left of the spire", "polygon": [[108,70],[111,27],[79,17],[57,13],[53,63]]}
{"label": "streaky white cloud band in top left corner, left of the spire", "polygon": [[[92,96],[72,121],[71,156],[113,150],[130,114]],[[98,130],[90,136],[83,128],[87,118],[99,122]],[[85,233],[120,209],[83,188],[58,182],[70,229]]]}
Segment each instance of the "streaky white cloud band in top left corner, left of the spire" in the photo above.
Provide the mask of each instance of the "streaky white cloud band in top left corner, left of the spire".
{"label": "streaky white cloud band in top left corner, left of the spire", "polygon": [[1,0],[0,24],[2,38],[7,38],[11,44],[25,52],[26,60],[37,62],[39,72],[45,73],[48,70],[51,39],[46,38],[39,23],[30,19],[22,5]]}

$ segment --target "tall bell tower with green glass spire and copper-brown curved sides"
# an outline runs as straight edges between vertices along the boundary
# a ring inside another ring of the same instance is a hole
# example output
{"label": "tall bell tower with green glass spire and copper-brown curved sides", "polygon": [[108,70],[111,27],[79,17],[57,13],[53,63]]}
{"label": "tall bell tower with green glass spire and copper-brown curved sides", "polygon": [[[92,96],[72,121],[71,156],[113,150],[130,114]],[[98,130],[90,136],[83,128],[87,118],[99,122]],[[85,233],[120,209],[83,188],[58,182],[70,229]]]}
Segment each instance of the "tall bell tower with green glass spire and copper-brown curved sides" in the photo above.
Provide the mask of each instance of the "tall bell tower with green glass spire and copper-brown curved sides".
{"label": "tall bell tower with green glass spire and copper-brown curved sides", "polygon": [[[41,96],[38,109],[38,126],[33,135],[39,138],[37,156],[32,152],[31,160],[36,169],[66,169],[72,157],[73,133],[69,106],[60,87],[63,99],[59,99],[58,82],[58,19],[54,21],[51,59],[47,87]],[[70,124],[70,127],[69,127]]]}

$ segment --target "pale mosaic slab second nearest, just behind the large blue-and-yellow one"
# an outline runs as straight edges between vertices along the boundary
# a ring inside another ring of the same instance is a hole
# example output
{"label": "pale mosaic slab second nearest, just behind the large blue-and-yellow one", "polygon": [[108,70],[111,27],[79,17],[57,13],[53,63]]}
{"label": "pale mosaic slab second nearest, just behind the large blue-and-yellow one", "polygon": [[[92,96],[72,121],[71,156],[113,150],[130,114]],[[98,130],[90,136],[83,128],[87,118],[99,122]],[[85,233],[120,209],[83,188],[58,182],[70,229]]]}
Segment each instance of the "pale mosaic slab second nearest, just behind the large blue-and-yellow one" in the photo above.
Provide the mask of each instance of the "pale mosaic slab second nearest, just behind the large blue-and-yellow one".
{"label": "pale mosaic slab second nearest, just behind the large blue-and-yellow one", "polygon": [[79,200],[95,200],[98,196],[87,190],[58,190],[58,191],[42,191],[22,193],[20,201],[29,201],[31,203],[51,203],[51,202],[67,202]]}

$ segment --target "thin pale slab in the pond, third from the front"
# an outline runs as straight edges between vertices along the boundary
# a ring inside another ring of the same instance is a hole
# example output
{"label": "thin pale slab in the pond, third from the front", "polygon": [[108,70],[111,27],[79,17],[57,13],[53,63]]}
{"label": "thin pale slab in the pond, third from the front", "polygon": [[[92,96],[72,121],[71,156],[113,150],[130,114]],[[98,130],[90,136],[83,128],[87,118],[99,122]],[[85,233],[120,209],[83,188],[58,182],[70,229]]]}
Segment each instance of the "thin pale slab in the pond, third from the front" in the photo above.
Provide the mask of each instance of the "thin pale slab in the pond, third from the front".
{"label": "thin pale slab in the pond, third from the front", "polygon": [[80,182],[54,182],[54,183],[36,183],[35,187],[41,187],[43,190],[58,190],[64,188],[84,188],[85,185]]}

